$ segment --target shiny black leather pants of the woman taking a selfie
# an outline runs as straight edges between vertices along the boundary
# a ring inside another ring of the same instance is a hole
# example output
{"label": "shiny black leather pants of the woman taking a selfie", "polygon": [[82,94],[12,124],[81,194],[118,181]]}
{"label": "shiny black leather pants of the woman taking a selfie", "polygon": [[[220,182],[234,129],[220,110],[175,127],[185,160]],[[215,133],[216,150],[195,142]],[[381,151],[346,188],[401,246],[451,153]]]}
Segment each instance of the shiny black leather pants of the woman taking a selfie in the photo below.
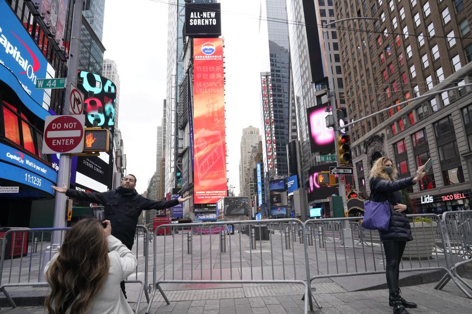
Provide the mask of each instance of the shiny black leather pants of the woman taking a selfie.
{"label": "shiny black leather pants of the woman taking a selfie", "polygon": [[383,242],[383,251],[385,252],[386,259],[385,274],[387,277],[388,290],[390,291],[399,290],[398,279],[400,276],[400,263],[406,245],[406,241]]}

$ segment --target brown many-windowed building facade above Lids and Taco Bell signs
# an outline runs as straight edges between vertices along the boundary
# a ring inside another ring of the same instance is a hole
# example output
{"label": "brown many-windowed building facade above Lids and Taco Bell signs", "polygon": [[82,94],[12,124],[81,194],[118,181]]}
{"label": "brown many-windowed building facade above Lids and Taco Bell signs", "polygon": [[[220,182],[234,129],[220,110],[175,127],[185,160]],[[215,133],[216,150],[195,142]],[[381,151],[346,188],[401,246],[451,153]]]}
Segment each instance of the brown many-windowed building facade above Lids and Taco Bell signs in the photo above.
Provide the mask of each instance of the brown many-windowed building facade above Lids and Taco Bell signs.
{"label": "brown many-windowed building facade above Lids and Taco Bell signs", "polygon": [[[413,209],[469,209],[472,89],[460,86],[471,82],[472,3],[339,1],[338,8],[336,19],[378,18],[339,30],[346,39],[340,51],[348,116],[357,120],[390,108],[350,130],[359,190],[368,195],[369,172],[378,157],[392,158],[399,178],[413,175],[431,157],[432,170],[408,189]],[[453,86],[459,88],[441,92]],[[413,100],[433,92],[439,93]]]}

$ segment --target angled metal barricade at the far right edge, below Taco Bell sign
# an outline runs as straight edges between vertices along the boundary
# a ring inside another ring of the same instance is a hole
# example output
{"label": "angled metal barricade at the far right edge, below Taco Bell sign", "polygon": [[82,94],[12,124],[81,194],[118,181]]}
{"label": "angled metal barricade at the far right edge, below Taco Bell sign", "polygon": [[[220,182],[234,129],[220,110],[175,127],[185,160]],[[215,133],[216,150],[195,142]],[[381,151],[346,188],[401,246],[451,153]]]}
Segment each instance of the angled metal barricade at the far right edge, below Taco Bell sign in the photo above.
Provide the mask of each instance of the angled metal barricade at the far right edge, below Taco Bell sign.
{"label": "angled metal barricade at the far right edge, below Taco Bell sign", "polygon": [[[447,253],[446,262],[450,273],[446,273],[435,288],[442,289],[451,279],[457,285],[457,279],[472,290],[471,285],[457,272],[458,267],[472,262],[472,210],[444,212],[442,228],[445,230],[442,244],[445,254]],[[463,288],[461,290],[472,298],[469,291]]]}

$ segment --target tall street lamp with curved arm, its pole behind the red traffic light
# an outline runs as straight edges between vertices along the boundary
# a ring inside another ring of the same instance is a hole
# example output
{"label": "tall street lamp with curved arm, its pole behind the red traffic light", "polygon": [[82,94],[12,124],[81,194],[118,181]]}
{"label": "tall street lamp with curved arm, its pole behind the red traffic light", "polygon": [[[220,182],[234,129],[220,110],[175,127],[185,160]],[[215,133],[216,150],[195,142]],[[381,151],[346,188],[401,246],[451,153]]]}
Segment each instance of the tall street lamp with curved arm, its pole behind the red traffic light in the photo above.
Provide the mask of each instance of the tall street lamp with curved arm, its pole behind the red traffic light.
{"label": "tall street lamp with curved arm, its pole behind the red traffic light", "polygon": [[[340,166],[340,158],[339,158],[339,146],[338,146],[338,141],[337,138],[340,135],[340,128],[339,128],[339,119],[338,119],[338,112],[337,112],[337,105],[336,105],[336,97],[334,93],[334,76],[332,72],[332,67],[331,67],[331,60],[330,60],[330,55],[329,55],[329,44],[328,44],[328,36],[327,36],[327,26],[334,25],[336,23],[344,22],[344,21],[351,21],[351,20],[378,20],[377,18],[369,18],[369,17],[354,17],[354,18],[347,18],[347,19],[341,19],[337,21],[333,21],[328,24],[324,24],[323,26],[323,40],[324,40],[324,47],[326,50],[326,65],[328,68],[328,83],[330,85],[329,88],[329,95],[331,97],[331,110],[332,110],[332,115],[333,115],[333,129],[334,129],[334,152],[336,156],[336,166]],[[348,203],[346,199],[346,185],[344,183],[344,180],[341,180],[339,178],[339,194],[343,200],[343,208],[344,208],[344,216],[348,216]],[[351,233],[351,227],[349,225],[349,222],[344,220],[343,221],[343,245],[346,247],[350,242],[352,241],[352,233]]]}

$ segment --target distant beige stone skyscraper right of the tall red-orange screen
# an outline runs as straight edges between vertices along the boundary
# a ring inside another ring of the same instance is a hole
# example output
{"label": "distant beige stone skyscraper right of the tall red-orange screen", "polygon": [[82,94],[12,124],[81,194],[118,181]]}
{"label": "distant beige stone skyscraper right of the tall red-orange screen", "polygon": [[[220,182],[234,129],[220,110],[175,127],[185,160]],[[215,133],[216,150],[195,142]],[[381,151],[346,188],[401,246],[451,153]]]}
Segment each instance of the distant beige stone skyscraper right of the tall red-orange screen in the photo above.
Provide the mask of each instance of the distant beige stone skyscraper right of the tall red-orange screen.
{"label": "distant beige stone skyscraper right of the tall red-orange screen", "polygon": [[259,129],[253,126],[242,129],[242,136],[240,142],[240,167],[239,167],[239,193],[240,196],[250,197],[247,195],[247,189],[245,187],[246,183],[246,173],[247,169],[251,163],[251,152],[253,147],[256,147],[261,140],[261,135],[259,134]]}

